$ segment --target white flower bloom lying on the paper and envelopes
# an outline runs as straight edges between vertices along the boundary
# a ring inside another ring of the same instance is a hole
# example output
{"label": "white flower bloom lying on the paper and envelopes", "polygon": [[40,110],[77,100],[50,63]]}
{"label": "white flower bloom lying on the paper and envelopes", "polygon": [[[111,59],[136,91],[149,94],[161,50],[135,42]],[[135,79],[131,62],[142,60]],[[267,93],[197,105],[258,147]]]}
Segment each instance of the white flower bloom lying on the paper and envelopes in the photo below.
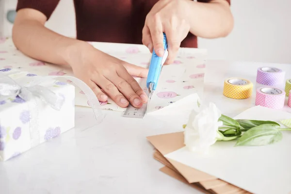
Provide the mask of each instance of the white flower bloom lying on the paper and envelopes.
{"label": "white flower bloom lying on the paper and envelopes", "polygon": [[184,144],[191,151],[207,153],[211,145],[221,140],[223,134],[218,128],[223,125],[218,121],[221,112],[214,103],[201,107],[200,110],[193,110],[185,127]]}

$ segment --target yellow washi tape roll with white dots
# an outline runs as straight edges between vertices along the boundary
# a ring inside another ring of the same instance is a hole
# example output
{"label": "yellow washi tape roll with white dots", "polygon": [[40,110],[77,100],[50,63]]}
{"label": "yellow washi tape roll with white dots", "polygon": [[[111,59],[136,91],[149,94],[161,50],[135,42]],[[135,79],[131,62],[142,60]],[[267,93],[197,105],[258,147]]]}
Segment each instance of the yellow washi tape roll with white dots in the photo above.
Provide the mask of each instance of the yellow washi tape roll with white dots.
{"label": "yellow washi tape roll with white dots", "polygon": [[229,78],[224,82],[223,95],[233,99],[245,99],[252,96],[253,83],[242,78]]}

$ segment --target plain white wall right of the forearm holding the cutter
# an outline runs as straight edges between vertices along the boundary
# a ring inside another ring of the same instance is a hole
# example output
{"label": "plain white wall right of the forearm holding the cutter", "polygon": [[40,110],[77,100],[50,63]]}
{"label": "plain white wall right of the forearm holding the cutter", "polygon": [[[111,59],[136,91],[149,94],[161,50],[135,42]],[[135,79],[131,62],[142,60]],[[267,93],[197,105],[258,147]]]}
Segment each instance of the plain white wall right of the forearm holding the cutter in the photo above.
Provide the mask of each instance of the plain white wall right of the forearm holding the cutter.
{"label": "plain white wall right of the forearm holding the cutter", "polygon": [[211,59],[291,63],[291,0],[232,0],[226,38],[199,39]]}

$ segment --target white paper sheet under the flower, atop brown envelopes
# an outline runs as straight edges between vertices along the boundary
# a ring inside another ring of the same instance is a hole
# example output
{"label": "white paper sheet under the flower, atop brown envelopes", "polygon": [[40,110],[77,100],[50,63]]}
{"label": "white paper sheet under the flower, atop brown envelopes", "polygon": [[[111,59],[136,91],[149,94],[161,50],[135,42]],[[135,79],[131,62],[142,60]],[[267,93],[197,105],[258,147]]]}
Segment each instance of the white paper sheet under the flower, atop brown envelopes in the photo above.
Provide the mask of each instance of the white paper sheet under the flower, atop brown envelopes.
{"label": "white paper sheet under the flower, atop brown envelopes", "polygon": [[[290,119],[291,113],[265,107],[253,107],[235,119]],[[235,141],[216,142],[207,156],[189,152],[185,147],[165,155],[255,194],[291,192],[291,131],[282,131],[283,139],[268,146],[237,146]]]}

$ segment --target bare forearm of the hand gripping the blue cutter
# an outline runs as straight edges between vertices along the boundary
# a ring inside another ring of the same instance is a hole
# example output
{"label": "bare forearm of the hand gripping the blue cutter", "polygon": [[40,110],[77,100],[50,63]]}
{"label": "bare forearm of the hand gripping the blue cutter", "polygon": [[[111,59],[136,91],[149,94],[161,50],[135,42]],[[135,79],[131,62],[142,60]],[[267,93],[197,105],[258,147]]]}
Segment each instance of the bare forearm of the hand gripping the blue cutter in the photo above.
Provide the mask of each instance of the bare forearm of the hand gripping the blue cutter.
{"label": "bare forearm of the hand gripping the blue cutter", "polygon": [[233,17],[226,0],[209,3],[187,0],[187,18],[190,32],[202,38],[219,38],[233,28]]}

